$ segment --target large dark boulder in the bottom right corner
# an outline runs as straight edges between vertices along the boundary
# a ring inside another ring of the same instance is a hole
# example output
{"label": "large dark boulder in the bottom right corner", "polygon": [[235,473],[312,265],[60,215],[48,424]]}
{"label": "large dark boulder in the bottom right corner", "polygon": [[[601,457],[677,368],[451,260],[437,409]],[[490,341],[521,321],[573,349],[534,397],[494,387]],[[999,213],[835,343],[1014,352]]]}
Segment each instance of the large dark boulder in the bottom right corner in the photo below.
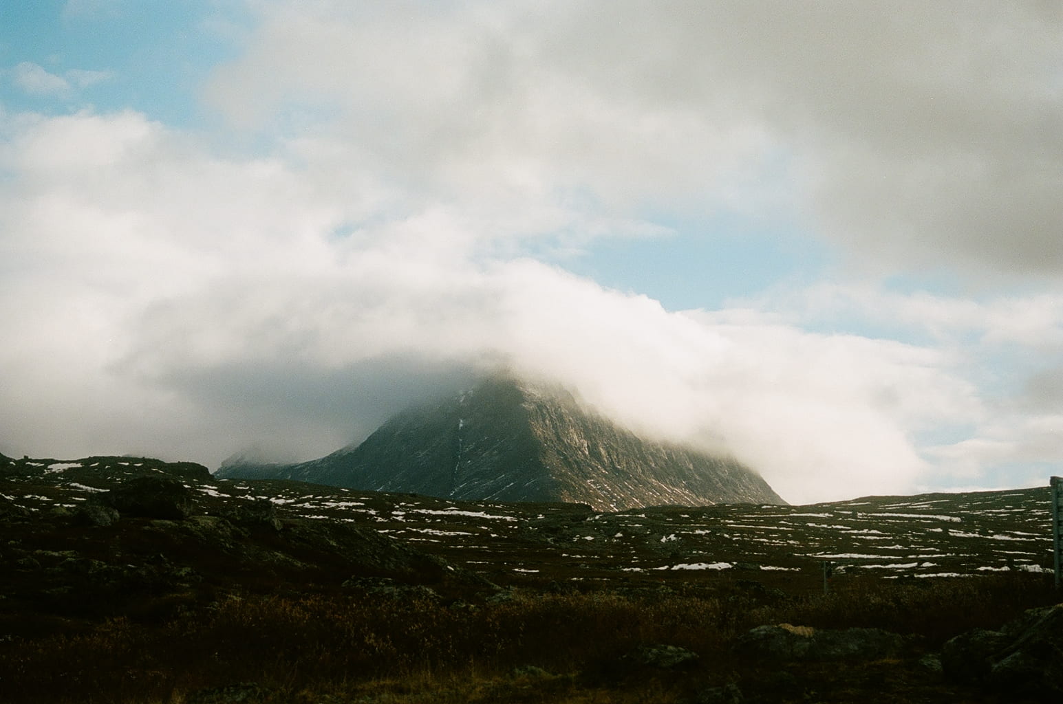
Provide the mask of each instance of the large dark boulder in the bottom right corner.
{"label": "large dark boulder in the bottom right corner", "polygon": [[999,631],[976,629],[942,648],[945,674],[1009,697],[1063,700],[1063,604],[1032,608]]}

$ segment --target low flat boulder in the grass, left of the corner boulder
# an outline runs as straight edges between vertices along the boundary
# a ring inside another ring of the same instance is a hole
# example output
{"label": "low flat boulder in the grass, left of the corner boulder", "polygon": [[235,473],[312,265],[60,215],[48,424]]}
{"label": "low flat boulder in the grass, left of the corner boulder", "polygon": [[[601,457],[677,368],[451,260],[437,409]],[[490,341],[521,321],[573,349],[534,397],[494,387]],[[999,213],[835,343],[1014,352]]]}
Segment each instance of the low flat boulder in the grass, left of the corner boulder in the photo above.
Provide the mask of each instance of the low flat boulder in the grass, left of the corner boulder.
{"label": "low flat boulder in the grass, left of the corner boulder", "polygon": [[879,629],[817,630],[807,625],[759,625],[735,650],[753,657],[790,660],[868,660],[896,655],[905,639]]}

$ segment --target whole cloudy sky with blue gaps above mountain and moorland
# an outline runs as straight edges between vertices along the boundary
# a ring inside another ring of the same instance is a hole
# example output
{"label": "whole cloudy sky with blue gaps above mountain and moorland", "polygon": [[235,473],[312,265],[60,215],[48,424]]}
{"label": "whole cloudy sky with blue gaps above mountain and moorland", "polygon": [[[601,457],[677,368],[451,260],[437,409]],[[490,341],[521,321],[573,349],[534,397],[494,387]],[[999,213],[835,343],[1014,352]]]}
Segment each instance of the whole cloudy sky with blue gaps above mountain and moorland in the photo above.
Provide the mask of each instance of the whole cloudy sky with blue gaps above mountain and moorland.
{"label": "whole cloudy sky with blue gaps above mountain and moorland", "polygon": [[794,503],[1046,485],[1061,193],[1053,0],[0,0],[0,452],[504,368]]}

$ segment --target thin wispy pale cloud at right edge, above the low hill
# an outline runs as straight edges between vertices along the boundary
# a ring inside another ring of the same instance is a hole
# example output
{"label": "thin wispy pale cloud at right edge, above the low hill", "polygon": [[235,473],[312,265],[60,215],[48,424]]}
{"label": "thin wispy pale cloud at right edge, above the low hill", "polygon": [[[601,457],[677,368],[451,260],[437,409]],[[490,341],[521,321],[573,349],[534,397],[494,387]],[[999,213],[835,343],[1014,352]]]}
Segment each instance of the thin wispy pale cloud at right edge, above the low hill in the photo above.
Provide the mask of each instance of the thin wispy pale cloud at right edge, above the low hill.
{"label": "thin wispy pale cloud at right edge, above the low hill", "polygon": [[945,444],[929,441],[921,450],[942,483],[951,478],[978,479],[985,487],[1028,483],[1059,463],[1063,291],[964,298],[822,284],[779,289],[749,305],[773,310],[793,325],[857,321],[925,340],[952,374],[976,384],[977,395],[960,408],[940,408],[942,428],[959,426],[962,436]]}

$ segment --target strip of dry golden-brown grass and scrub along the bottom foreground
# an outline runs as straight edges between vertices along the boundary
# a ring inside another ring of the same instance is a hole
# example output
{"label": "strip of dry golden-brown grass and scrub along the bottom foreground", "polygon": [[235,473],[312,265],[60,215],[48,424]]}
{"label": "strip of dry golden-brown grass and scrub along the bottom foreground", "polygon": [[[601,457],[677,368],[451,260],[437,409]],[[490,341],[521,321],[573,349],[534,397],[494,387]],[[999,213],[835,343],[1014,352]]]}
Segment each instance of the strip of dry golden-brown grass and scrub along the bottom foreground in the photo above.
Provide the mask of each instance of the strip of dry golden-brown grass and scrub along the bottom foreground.
{"label": "strip of dry golden-brown grass and scrub along the bottom foreground", "polygon": [[[723,588],[518,591],[474,606],[232,595],[162,624],[119,618],[78,635],[0,643],[0,700],[178,704],[198,689],[256,682],[279,702],[670,702],[690,682],[741,676],[745,665],[729,646],[758,624],[877,626],[921,635],[930,648],[1051,600],[1041,581],[1019,577],[868,580],[776,604]],[[655,642],[693,650],[702,664],[681,682],[652,672],[625,680],[620,658]],[[526,666],[545,673],[513,674]]]}

